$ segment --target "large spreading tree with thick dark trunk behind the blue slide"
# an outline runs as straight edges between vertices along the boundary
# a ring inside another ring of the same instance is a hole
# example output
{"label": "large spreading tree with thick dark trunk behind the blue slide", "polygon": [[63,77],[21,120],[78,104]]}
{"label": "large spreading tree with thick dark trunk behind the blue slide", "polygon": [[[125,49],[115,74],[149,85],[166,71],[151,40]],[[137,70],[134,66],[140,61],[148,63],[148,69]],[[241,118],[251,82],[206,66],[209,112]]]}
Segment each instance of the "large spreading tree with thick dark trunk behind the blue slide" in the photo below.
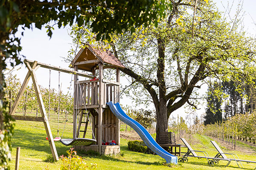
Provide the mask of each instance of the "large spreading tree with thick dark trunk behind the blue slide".
{"label": "large spreading tree with thick dark trunk behind the blue slide", "polygon": [[173,8],[157,28],[151,24],[123,32],[110,42],[126,67],[121,71],[129,75],[124,90],[137,102],[154,104],[157,141],[173,111],[185,103],[195,106],[193,92],[202,83],[209,84],[209,78],[251,80],[255,71],[255,44],[239,30],[238,17],[228,22],[210,0],[171,2]]}

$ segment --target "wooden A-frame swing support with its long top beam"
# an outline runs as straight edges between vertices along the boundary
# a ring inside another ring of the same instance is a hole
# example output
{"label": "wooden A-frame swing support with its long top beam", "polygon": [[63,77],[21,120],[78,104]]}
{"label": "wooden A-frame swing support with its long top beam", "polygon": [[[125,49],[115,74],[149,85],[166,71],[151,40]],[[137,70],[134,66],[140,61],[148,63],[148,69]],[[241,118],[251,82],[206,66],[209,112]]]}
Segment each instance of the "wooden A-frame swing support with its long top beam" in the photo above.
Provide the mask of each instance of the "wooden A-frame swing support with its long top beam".
{"label": "wooden A-frame swing support with its long top beam", "polygon": [[89,74],[84,74],[84,73],[78,73],[76,71],[72,71],[72,70],[69,70],[69,69],[58,68],[58,67],[47,65],[47,64],[44,64],[44,63],[38,63],[37,61],[30,61],[30,60],[25,59],[24,63],[25,63],[25,65],[26,65],[26,67],[28,68],[29,71],[28,71],[28,73],[27,73],[27,75],[24,79],[24,82],[23,82],[23,84],[20,88],[20,91],[17,95],[17,98],[15,99],[15,102],[14,102],[14,104],[12,106],[12,109],[10,110],[9,114],[12,115],[13,113],[15,113],[15,111],[17,109],[17,106],[20,102],[20,99],[21,99],[21,97],[22,97],[22,95],[23,95],[23,93],[26,89],[26,86],[29,83],[29,79],[32,78],[33,85],[34,85],[34,88],[35,88],[35,93],[36,93],[39,108],[40,108],[40,112],[41,112],[41,117],[12,115],[12,118],[14,118],[16,120],[44,122],[45,131],[47,133],[50,149],[51,149],[51,152],[52,152],[52,157],[55,161],[58,161],[58,153],[57,153],[57,150],[56,150],[56,147],[55,147],[55,143],[53,141],[52,132],[51,132],[51,129],[50,129],[48,118],[47,118],[47,113],[46,113],[45,108],[44,108],[44,102],[43,102],[42,95],[41,95],[41,92],[40,92],[40,88],[39,88],[39,85],[38,85],[38,82],[37,82],[37,79],[36,79],[35,71],[41,66],[41,67],[44,67],[44,68],[49,68],[49,69],[52,69],[52,70],[57,70],[57,71],[70,73],[70,74],[76,74],[76,75],[80,75],[80,76],[83,76],[83,77],[93,78],[94,76],[89,75]]}

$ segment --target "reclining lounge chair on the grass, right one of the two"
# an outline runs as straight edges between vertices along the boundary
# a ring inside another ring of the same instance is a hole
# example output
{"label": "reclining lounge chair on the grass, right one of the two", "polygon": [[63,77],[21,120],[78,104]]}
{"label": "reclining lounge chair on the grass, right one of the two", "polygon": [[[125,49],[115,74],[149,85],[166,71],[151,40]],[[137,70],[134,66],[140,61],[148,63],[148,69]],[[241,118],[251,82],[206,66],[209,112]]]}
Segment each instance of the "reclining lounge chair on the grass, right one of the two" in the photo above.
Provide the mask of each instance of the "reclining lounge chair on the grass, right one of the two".
{"label": "reclining lounge chair on the grass, right one of the two", "polygon": [[[247,164],[249,163],[256,163],[256,161],[246,161],[246,160],[241,160],[239,159],[239,157],[235,154],[235,153],[224,153],[221,148],[218,146],[218,144],[215,141],[211,141],[213,146],[216,148],[216,150],[218,151],[217,155],[215,156],[215,158],[224,158],[224,159],[230,159],[231,161],[236,161],[236,164],[239,167],[238,162],[240,162],[241,166],[243,167],[241,162],[246,162]],[[233,156],[233,158],[227,158],[226,155],[231,155]],[[237,158],[237,159],[236,159]],[[240,168],[240,167],[239,167]],[[254,170],[256,170],[256,167],[254,168]]]}

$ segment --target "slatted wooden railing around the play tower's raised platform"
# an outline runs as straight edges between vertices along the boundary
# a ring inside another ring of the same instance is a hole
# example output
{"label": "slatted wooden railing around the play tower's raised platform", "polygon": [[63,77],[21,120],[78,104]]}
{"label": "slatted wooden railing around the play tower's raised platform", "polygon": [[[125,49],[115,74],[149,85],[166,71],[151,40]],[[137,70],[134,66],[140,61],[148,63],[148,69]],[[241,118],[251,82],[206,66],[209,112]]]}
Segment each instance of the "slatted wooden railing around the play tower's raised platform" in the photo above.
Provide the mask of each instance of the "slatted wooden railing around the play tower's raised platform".
{"label": "slatted wooden railing around the play tower's raised platform", "polygon": [[[106,102],[119,102],[120,100],[120,90],[119,90],[119,82],[115,82],[112,80],[102,80],[103,83],[103,105]],[[79,85],[77,88],[77,97],[75,103],[78,103],[78,106],[92,106],[99,105],[99,80],[84,80],[79,81]],[[76,102],[76,100],[78,101]],[[76,108],[76,105],[74,105]]]}

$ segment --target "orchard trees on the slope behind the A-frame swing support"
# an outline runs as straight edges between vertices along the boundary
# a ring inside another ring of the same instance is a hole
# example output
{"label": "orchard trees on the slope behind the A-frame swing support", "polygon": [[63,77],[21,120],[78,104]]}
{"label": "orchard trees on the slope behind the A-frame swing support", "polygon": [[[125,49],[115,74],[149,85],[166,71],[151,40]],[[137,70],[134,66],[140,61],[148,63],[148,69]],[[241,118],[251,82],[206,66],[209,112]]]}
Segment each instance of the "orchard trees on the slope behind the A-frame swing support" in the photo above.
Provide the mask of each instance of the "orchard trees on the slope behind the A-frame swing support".
{"label": "orchard trees on the slope behind the A-frame swing support", "polygon": [[[6,73],[6,88],[4,88],[5,91],[5,100],[8,101],[8,107],[10,108],[13,102],[16,99],[16,96],[20,90],[21,83],[20,79],[17,78],[17,75],[13,74],[13,69],[8,70]],[[60,113],[73,113],[73,97],[68,92],[67,94],[64,94],[63,91],[60,91],[58,94],[58,91],[56,91],[54,88],[51,88],[50,91],[48,88],[44,88],[42,86],[39,86],[41,95],[43,98],[44,106],[47,111],[54,111],[55,113],[58,113],[58,106],[60,107]],[[12,94],[11,96],[9,94]],[[49,105],[49,94],[50,94],[50,105]],[[60,104],[59,104],[60,101]],[[10,105],[11,104],[11,105]],[[36,116],[38,113],[40,113],[38,101],[35,94],[35,89],[33,85],[28,85],[26,87],[26,90],[20,100],[20,103],[18,105],[18,109],[25,115],[28,111],[32,113],[34,110],[36,112]]]}

